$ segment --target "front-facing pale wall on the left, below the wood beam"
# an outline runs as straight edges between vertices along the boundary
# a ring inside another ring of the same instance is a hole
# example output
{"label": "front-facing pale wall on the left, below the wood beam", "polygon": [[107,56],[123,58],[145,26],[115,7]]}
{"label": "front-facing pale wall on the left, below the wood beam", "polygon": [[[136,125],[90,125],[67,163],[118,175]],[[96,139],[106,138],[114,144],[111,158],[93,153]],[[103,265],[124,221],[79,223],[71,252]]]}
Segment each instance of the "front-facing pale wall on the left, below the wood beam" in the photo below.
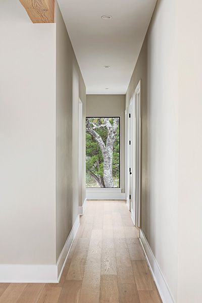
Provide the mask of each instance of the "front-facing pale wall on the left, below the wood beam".
{"label": "front-facing pale wall on the left, below the wood beam", "polygon": [[0,264],[55,264],[56,25],[0,2]]}

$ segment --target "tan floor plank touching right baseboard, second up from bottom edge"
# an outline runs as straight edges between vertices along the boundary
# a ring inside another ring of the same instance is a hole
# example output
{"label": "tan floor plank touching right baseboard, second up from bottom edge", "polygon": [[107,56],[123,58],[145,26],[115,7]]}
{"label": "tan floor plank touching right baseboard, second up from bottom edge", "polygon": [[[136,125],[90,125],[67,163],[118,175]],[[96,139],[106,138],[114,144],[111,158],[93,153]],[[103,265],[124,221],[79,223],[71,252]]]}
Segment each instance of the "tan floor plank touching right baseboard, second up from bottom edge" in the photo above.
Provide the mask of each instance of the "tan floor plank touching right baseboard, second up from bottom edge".
{"label": "tan floor plank touching right baseboard, second up from bottom edge", "polygon": [[155,290],[153,278],[146,261],[132,261],[137,290]]}

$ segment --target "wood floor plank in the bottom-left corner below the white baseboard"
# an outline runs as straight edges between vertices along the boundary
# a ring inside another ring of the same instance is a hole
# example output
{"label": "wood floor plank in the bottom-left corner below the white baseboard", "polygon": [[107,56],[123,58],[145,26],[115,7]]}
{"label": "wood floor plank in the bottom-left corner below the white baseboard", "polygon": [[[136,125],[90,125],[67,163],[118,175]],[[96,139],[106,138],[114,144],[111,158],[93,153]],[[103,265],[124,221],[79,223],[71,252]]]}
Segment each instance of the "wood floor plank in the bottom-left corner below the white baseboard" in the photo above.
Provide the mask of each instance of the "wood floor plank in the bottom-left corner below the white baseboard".
{"label": "wood floor plank in the bottom-left corner below the white baseboard", "polygon": [[11,283],[1,295],[0,303],[16,303],[26,286],[26,283]]}

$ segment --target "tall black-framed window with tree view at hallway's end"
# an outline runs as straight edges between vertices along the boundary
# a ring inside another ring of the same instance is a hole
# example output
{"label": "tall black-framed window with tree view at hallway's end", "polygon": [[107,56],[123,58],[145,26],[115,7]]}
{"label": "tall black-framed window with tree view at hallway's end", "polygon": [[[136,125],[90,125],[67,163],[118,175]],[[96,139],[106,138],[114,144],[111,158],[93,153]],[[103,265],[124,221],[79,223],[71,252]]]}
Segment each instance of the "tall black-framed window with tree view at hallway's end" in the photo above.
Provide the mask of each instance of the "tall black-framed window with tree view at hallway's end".
{"label": "tall black-framed window with tree view at hallway's end", "polygon": [[86,187],[120,187],[120,117],[86,117]]}

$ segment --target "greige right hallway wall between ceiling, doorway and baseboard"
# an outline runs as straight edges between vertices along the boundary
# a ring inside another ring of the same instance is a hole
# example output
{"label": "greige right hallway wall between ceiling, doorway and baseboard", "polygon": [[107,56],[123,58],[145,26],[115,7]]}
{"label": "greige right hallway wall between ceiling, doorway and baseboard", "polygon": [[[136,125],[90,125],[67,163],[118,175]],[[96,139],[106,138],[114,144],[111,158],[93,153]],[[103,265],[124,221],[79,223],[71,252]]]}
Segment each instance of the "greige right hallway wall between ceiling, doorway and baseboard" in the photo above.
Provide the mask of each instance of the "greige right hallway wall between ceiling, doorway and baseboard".
{"label": "greige right hallway wall between ceiling, doorway and baseboard", "polygon": [[159,1],[127,93],[142,79],[141,228],[177,299],[176,1]]}

